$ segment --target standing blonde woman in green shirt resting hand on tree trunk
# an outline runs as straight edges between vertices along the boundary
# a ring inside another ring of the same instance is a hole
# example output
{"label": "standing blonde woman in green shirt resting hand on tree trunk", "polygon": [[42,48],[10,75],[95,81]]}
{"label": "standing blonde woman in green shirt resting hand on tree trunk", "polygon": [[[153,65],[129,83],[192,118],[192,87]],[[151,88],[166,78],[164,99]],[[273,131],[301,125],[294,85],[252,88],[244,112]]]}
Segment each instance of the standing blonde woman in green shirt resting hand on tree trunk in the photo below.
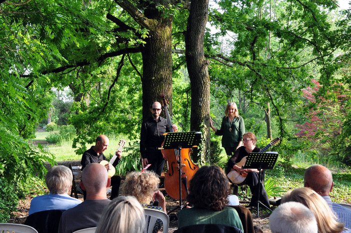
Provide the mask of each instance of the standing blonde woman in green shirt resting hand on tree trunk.
{"label": "standing blonde woman in green shirt resting hand on tree trunk", "polygon": [[231,156],[242,145],[242,136],[245,133],[245,124],[239,115],[236,103],[229,102],[225,108],[225,116],[222,119],[220,129],[213,126],[209,118],[209,126],[216,135],[222,135],[222,146],[225,153]]}

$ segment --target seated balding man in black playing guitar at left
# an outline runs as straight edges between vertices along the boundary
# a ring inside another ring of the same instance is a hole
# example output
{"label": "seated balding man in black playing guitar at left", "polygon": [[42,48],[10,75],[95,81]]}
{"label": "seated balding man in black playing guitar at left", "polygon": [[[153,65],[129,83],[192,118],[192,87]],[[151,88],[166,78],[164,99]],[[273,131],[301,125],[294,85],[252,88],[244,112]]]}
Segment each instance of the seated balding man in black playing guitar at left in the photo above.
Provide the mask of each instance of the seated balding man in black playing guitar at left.
{"label": "seated balding man in black playing guitar at left", "polygon": [[[91,146],[90,149],[86,150],[81,157],[81,161],[80,161],[81,170],[83,170],[87,164],[106,160],[106,157],[103,155],[103,151],[107,149],[108,145],[109,145],[109,140],[107,136],[103,134],[97,136],[95,140],[95,145]],[[115,159],[113,164],[107,163],[104,165],[107,170],[112,169],[114,166],[118,164],[120,157],[122,155],[122,151],[121,150],[116,151],[116,155],[117,155],[117,158]],[[120,180],[121,178],[119,175],[113,175],[111,177],[112,190],[111,190],[110,199],[113,199],[114,197],[118,196]],[[85,191],[84,191],[84,199],[85,199]]]}

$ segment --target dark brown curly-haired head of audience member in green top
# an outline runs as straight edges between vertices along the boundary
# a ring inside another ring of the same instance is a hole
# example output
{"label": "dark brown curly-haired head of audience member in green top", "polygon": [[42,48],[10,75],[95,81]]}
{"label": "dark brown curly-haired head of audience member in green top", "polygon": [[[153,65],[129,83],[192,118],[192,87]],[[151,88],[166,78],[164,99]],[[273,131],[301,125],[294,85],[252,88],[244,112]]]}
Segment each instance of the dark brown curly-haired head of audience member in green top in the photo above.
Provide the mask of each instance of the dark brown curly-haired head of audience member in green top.
{"label": "dark brown curly-haired head of audience member in green top", "polygon": [[229,188],[219,166],[201,166],[190,180],[186,199],[197,208],[222,210],[228,204]]}

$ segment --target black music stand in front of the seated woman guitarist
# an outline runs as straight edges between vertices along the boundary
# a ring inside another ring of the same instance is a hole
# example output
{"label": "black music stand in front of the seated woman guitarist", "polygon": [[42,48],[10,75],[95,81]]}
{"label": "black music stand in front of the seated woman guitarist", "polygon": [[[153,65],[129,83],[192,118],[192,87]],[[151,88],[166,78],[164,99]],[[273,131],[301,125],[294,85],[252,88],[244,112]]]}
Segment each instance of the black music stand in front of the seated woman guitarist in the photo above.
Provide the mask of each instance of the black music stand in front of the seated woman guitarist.
{"label": "black music stand in front of the seated woman guitarist", "polygon": [[[273,169],[277,158],[278,158],[278,152],[267,152],[267,153],[251,152],[248,154],[243,168],[257,169],[258,180],[259,182],[261,182],[261,169]],[[272,211],[268,206],[265,206],[259,200],[260,192],[261,192],[261,185],[258,185],[257,217],[258,217],[259,204],[263,205],[264,207]]]}

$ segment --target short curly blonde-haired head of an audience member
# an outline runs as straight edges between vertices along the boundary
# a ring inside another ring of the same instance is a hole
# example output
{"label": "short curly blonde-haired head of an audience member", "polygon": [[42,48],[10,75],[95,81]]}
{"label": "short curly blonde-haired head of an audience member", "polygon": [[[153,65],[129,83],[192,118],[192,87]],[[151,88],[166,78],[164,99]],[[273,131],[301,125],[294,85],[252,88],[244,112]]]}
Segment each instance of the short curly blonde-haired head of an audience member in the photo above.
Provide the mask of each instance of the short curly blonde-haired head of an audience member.
{"label": "short curly blonde-haired head of an audience member", "polygon": [[122,183],[122,195],[135,196],[140,203],[149,204],[158,183],[159,178],[152,171],[133,171],[126,175]]}

